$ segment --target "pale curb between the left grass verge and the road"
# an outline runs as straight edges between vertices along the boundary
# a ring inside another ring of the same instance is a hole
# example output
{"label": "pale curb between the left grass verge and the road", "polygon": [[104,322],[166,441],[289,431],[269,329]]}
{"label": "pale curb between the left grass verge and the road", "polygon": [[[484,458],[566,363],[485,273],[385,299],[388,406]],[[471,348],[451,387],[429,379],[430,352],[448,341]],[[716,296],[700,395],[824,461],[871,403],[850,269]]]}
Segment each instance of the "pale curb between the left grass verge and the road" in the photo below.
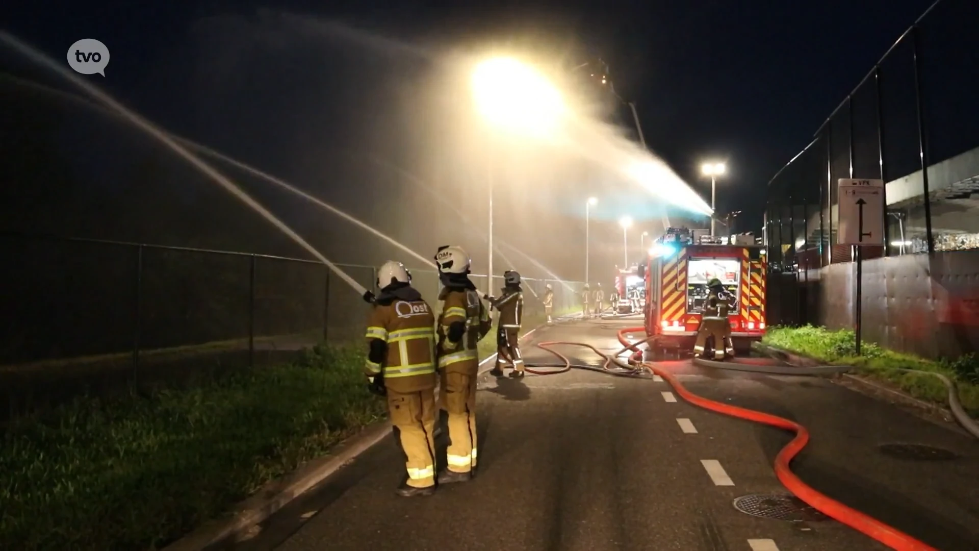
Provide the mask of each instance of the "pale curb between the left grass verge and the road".
{"label": "pale curb between the left grass verge and the road", "polygon": [[[558,318],[555,323],[562,319],[572,318]],[[546,325],[536,326],[520,338],[527,338],[544,326]],[[480,362],[478,377],[492,369],[491,366],[486,369],[483,366],[494,358],[496,358],[495,353]],[[163,551],[201,551],[215,543],[227,540],[250,526],[261,523],[303,492],[354,461],[357,456],[391,434],[391,431],[390,421],[379,421],[365,426],[358,433],[337,444],[328,455],[309,461],[296,471],[266,483],[254,495],[236,505],[230,512],[230,518],[209,521],[167,545]],[[435,435],[438,436],[439,433],[437,427]]]}

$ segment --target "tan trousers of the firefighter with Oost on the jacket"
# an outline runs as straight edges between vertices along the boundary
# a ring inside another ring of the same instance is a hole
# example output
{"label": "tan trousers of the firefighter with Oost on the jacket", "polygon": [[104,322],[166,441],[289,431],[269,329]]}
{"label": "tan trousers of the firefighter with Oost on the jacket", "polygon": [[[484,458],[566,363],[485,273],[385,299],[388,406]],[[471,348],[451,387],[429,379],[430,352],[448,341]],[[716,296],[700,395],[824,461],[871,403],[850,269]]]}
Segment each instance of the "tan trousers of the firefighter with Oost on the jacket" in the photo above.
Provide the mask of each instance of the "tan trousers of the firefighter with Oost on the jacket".
{"label": "tan trousers of the firefighter with Oost on the jacket", "polygon": [[435,485],[435,388],[405,393],[388,388],[388,411],[404,452],[407,484]]}

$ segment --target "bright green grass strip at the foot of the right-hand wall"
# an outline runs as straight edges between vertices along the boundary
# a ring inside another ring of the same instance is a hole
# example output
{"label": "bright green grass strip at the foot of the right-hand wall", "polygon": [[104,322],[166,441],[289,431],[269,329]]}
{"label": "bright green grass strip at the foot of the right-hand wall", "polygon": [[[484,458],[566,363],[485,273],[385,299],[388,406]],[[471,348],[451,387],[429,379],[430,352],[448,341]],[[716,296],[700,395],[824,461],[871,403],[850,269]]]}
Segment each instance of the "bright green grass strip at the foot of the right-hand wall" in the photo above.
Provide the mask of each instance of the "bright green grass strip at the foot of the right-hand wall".
{"label": "bright green grass strip at the foot of the right-hand wall", "polygon": [[852,329],[830,331],[816,326],[769,327],[763,342],[821,362],[854,366],[861,376],[893,383],[915,398],[936,404],[948,403],[948,390],[938,377],[896,369],[948,376],[956,382],[958,399],[965,411],[972,418],[979,417],[979,357],[975,355],[932,361],[862,342],[862,355],[857,356]]}

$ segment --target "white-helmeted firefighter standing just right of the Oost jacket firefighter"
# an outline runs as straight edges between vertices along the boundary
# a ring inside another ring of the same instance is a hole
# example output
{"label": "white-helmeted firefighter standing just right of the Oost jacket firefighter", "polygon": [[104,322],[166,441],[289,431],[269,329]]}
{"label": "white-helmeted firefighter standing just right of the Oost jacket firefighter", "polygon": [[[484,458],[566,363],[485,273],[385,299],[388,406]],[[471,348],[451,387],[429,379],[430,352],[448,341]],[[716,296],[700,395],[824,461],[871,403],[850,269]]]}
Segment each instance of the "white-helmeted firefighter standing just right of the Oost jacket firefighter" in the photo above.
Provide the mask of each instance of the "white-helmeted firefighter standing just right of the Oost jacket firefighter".
{"label": "white-helmeted firefighter standing just right of the Oost jacket firefighter", "polygon": [[469,279],[469,255],[461,247],[439,247],[435,255],[439,293],[443,303],[437,324],[442,409],[448,415],[449,445],[446,469],[439,483],[469,480],[477,464],[476,379],[479,353],[476,344],[489,332],[492,321],[476,285]]}

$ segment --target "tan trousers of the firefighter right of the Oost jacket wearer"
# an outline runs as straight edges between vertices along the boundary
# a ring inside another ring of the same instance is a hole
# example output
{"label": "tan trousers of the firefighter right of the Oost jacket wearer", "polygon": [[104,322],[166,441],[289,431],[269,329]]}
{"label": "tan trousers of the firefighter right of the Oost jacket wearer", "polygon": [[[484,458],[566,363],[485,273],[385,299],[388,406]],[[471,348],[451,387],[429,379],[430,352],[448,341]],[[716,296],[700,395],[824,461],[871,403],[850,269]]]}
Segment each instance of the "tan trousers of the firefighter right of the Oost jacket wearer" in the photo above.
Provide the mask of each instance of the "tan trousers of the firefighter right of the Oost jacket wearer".
{"label": "tan trousers of the firefighter right of the Oost jacket wearer", "polygon": [[[455,368],[454,370],[452,368]],[[476,379],[479,367],[466,372],[456,366],[439,372],[442,409],[448,414],[446,468],[453,473],[470,473],[477,463]]]}

